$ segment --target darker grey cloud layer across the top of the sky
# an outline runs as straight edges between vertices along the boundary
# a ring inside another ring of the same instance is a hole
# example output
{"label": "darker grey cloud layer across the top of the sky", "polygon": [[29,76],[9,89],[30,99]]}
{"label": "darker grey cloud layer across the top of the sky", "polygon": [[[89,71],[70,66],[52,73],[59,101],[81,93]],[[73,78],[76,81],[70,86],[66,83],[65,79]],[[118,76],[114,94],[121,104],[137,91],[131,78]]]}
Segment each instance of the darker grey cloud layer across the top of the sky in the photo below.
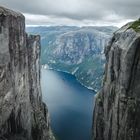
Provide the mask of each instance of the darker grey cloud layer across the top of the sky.
{"label": "darker grey cloud layer across the top of the sky", "polygon": [[23,13],[71,20],[113,22],[140,16],[140,0],[1,0],[0,4]]}

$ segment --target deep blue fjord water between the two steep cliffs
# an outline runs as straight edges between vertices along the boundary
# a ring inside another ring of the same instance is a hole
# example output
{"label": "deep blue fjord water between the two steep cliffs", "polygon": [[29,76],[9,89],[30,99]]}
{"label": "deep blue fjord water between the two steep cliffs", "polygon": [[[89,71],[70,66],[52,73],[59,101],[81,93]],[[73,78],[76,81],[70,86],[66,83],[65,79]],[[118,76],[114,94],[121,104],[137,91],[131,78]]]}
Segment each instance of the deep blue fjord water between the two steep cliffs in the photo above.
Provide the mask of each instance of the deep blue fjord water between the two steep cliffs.
{"label": "deep blue fjord water between the two steep cliffs", "polygon": [[54,70],[42,69],[41,86],[57,140],[91,140],[95,93]]}

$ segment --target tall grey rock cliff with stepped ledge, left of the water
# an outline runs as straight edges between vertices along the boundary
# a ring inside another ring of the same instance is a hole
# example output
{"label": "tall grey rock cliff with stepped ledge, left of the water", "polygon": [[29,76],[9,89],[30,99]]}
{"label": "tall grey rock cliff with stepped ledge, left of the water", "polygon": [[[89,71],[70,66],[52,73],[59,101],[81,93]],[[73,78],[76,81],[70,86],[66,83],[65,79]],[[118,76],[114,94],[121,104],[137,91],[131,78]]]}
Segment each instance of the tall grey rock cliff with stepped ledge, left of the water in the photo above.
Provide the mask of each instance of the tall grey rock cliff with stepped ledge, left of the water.
{"label": "tall grey rock cliff with stepped ledge, left of the water", "polygon": [[20,13],[0,7],[0,139],[52,139],[40,88],[40,37]]}

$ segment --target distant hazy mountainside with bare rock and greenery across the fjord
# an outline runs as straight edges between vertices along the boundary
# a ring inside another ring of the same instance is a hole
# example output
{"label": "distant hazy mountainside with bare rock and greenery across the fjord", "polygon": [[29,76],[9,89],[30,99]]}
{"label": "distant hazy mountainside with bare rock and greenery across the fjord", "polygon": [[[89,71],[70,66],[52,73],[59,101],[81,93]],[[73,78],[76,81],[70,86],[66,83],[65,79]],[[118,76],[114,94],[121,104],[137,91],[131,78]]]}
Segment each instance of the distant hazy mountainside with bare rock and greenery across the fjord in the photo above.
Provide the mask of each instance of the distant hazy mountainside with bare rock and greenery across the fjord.
{"label": "distant hazy mountainside with bare rock and greenery across the fjord", "polygon": [[84,86],[101,86],[104,46],[116,27],[28,27],[28,33],[41,34],[41,62],[50,68],[69,72]]}

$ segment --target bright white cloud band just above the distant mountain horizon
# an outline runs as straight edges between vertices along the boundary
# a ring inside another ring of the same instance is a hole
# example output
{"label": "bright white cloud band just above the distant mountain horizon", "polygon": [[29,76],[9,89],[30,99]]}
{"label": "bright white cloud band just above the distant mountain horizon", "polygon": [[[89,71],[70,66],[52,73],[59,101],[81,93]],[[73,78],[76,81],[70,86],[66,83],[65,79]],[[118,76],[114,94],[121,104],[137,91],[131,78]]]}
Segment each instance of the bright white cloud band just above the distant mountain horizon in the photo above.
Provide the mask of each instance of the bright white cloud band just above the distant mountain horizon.
{"label": "bright white cloud band just above the distant mountain horizon", "polygon": [[76,20],[70,19],[66,17],[57,17],[57,16],[44,16],[44,15],[32,15],[32,14],[24,14],[26,17],[26,25],[27,26],[36,26],[36,25],[47,25],[47,26],[57,26],[57,25],[69,25],[69,26],[118,26],[121,27],[127,22],[131,20],[113,20],[111,17],[107,17],[107,21],[102,20]]}

